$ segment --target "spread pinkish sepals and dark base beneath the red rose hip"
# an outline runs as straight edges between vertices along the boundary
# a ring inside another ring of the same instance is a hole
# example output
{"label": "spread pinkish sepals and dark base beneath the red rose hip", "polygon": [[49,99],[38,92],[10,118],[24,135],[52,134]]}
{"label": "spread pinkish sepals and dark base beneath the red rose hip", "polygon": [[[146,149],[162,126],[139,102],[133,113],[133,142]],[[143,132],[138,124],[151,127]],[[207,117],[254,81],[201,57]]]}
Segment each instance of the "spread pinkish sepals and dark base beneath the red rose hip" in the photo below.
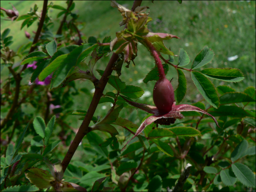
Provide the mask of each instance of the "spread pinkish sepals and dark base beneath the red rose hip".
{"label": "spread pinkish sepals and dark base beneath the red rose hip", "polygon": [[[121,95],[120,95],[121,96]],[[122,96],[121,96],[122,97]],[[123,97],[123,99],[125,99]],[[192,106],[192,105],[188,105],[188,104],[183,104],[183,105],[176,105],[176,102],[174,101],[173,105],[172,105],[172,109],[165,114],[161,114],[159,113],[157,107],[152,106],[152,105],[146,105],[146,104],[142,104],[142,103],[136,103],[133,101],[129,101],[127,99],[125,99],[125,101],[127,101],[130,105],[135,106],[136,108],[142,109],[148,113],[152,113],[153,115],[148,117],[138,128],[137,132],[135,133],[135,135],[132,137],[135,138],[136,136],[138,136],[147,125],[150,125],[151,123],[155,122],[158,123],[160,125],[170,125],[170,124],[174,124],[174,121],[176,120],[176,118],[181,119],[184,118],[184,116],[180,113],[183,111],[196,111],[196,112],[201,112],[204,114],[207,114],[208,116],[211,116],[213,118],[213,120],[215,121],[215,123],[218,125],[217,120],[215,119],[215,117],[213,117],[211,114],[205,112],[204,110]],[[130,139],[125,146],[132,140]],[[123,147],[122,151],[124,150],[125,146]]]}

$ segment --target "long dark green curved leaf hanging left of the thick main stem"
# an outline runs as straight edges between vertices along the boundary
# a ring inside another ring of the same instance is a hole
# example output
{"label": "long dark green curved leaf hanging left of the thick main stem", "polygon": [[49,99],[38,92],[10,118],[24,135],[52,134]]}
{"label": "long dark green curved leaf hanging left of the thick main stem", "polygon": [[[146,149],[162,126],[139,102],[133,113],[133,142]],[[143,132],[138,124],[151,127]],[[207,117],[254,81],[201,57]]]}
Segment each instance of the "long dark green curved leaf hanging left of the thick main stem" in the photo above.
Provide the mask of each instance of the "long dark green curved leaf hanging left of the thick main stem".
{"label": "long dark green curved leaf hanging left of the thick main stem", "polygon": [[59,70],[56,71],[53,77],[51,89],[58,87],[67,78],[72,69],[75,68],[89,53],[95,49],[97,44],[84,44],[75,48],[68,56],[61,62]]}

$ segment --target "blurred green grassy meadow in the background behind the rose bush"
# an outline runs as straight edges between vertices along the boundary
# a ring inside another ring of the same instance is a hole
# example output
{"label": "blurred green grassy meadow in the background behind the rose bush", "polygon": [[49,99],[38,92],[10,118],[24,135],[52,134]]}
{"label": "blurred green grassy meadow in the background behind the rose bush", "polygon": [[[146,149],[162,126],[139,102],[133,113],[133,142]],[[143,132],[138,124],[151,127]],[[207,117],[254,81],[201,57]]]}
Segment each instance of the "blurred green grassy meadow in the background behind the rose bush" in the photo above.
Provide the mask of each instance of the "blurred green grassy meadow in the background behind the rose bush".
{"label": "blurred green grassy meadow in the background behind the rose bush", "polygon": [[[10,9],[10,1],[1,1],[1,7]],[[19,11],[19,15],[26,14],[30,7],[36,3],[39,7],[38,11],[42,10],[43,1],[11,1]],[[66,7],[65,1],[52,1],[53,4],[59,4]],[[88,39],[89,36],[95,36],[102,40],[105,36],[115,37],[115,33],[123,29],[124,26],[119,26],[122,17],[116,8],[110,6],[109,1],[74,1],[76,3],[73,10],[79,14],[78,21],[85,22],[86,25],[82,30],[83,39]],[[132,7],[133,1],[117,1],[119,4],[127,8]],[[237,91],[243,91],[248,86],[255,86],[255,1],[183,1],[178,4],[177,1],[143,1],[142,6],[150,7],[150,17],[153,21],[148,27],[153,32],[170,33],[177,35],[181,39],[171,39],[165,41],[166,47],[172,49],[174,54],[179,53],[180,48],[184,48],[190,56],[191,62],[186,67],[189,68],[195,56],[205,45],[214,50],[215,58],[203,68],[239,68],[244,73],[245,79],[239,83],[228,83],[218,80],[212,80],[217,87],[218,85],[230,85]],[[52,16],[54,21],[53,31],[59,27],[60,20],[56,19],[56,15],[60,10],[48,11],[49,16]],[[70,18],[68,18],[69,20]],[[11,49],[17,50],[20,45],[26,43],[24,31],[27,30],[32,34],[33,30],[37,29],[35,22],[29,29],[24,27],[20,31],[20,26],[23,21],[10,22],[1,20],[1,32],[7,27],[11,29],[10,35],[14,36],[14,44]],[[228,61],[227,58],[238,55],[238,59]],[[110,54],[111,56],[111,54]],[[100,60],[95,69],[104,70],[109,58],[105,57]],[[16,62],[20,62],[18,57]],[[177,57],[174,64],[177,64]],[[135,64],[129,68],[123,67],[121,80],[127,84],[140,86],[144,91],[147,91],[147,96],[140,98],[138,102],[151,103],[152,90],[154,82],[148,84],[141,83],[141,80],[146,76],[151,68],[154,67],[154,61],[147,50],[138,45],[138,57],[135,59]],[[177,87],[177,73],[174,68],[169,67],[167,78],[173,79],[173,87]],[[203,69],[202,68],[202,69]],[[189,72],[184,71],[187,77],[187,94],[182,103],[193,103],[202,99],[202,96],[196,90],[195,85],[191,80]],[[100,78],[95,71],[97,78]],[[7,78],[8,71],[6,68],[1,72],[1,80]],[[113,75],[115,73],[113,72]],[[29,81],[27,79],[26,81]],[[28,82],[23,82],[28,83]],[[89,91],[94,89],[91,82],[87,80],[77,80],[76,87],[78,89],[86,87]],[[64,88],[62,88],[64,89]],[[106,86],[104,93],[113,91],[114,88],[109,84]],[[93,91],[92,91],[93,92]],[[75,104],[73,109],[87,109],[93,93],[85,95],[81,93],[74,95]],[[106,108],[105,108],[106,106]],[[99,104],[95,116],[104,115],[110,108],[109,103]],[[121,116],[128,117],[133,109],[122,110]],[[135,122],[140,123],[146,113],[138,110]],[[134,112],[135,113],[135,112]],[[137,112],[136,112],[137,113]],[[68,117],[68,122],[73,127],[79,127],[81,121],[74,120],[74,116]]]}

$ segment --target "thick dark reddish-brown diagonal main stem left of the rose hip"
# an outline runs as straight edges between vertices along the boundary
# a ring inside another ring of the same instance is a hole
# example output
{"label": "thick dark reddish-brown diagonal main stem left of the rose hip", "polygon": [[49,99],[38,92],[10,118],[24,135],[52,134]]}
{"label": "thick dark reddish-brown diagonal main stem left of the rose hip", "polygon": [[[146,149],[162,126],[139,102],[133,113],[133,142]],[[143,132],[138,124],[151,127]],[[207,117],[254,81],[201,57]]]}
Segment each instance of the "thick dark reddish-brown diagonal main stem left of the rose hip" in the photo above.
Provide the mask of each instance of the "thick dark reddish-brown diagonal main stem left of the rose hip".
{"label": "thick dark reddish-brown diagonal main stem left of the rose hip", "polygon": [[[140,1],[138,3],[135,0],[133,5],[136,4],[136,6],[139,6],[141,2],[142,1]],[[136,7],[133,6],[132,8],[133,8],[132,11],[134,11],[134,9]],[[95,88],[93,99],[91,100],[91,104],[89,106],[89,109],[87,110],[86,116],[84,117],[83,123],[81,124],[78,132],[76,133],[75,139],[69,146],[68,152],[66,153],[63,161],[61,162],[62,167],[63,167],[63,172],[65,172],[65,170],[67,169],[67,166],[68,166],[69,162],[71,161],[71,158],[73,157],[73,155],[74,155],[76,149],[78,148],[79,143],[82,141],[83,137],[91,131],[91,129],[89,128],[91,118],[93,118],[94,112],[99,103],[99,99],[101,98],[101,95],[103,94],[103,90],[105,89],[106,84],[108,83],[108,80],[109,80],[108,76],[110,76],[112,74],[113,64],[114,64],[114,62],[117,61],[118,58],[119,57],[116,53],[112,54],[112,57],[110,58],[109,63],[107,65],[101,79],[99,80],[99,84]]]}

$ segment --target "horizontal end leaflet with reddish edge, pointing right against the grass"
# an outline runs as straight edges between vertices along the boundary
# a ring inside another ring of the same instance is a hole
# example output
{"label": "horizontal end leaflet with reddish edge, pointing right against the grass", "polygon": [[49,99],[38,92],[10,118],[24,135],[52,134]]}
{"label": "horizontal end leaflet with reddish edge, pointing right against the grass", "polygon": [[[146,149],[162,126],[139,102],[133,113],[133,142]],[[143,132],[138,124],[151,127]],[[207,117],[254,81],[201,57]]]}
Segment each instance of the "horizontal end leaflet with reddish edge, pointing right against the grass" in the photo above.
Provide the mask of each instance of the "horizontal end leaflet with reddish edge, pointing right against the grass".
{"label": "horizontal end leaflet with reddish edge, pointing right against the grass", "polygon": [[227,82],[240,82],[244,75],[239,69],[232,68],[207,68],[201,71],[208,78],[218,79]]}

